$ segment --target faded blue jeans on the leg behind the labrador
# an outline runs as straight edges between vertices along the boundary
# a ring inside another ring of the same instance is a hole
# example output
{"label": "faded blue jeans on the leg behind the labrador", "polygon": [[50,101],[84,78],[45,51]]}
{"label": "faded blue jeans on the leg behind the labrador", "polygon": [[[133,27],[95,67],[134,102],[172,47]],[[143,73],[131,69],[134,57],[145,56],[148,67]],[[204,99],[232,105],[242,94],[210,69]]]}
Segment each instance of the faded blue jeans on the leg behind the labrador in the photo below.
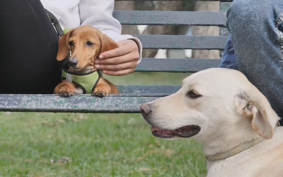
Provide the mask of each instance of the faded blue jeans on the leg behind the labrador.
{"label": "faded blue jeans on the leg behind the labrador", "polygon": [[243,72],[267,97],[281,118],[283,118],[282,21],[282,0],[234,0],[227,11],[226,22],[231,35],[219,65]]}

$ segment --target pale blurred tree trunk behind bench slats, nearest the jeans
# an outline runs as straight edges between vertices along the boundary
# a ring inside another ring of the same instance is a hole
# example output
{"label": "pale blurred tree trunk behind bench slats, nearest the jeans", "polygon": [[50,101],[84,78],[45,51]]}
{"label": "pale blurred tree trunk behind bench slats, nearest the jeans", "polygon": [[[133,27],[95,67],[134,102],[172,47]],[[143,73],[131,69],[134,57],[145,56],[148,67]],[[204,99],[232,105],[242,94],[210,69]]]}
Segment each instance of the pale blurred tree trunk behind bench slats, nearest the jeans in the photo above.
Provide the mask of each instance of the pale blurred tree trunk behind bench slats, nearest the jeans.
{"label": "pale blurred tree trunk behind bench slats, nearest the jeans", "polygon": [[[219,12],[218,1],[196,1],[194,11],[209,11]],[[215,26],[194,26],[192,27],[192,35],[201,36],[218,36],[219,27]],[[192,50],[192,58],[206,58],[206,59],[218,59],[218,50]]]}

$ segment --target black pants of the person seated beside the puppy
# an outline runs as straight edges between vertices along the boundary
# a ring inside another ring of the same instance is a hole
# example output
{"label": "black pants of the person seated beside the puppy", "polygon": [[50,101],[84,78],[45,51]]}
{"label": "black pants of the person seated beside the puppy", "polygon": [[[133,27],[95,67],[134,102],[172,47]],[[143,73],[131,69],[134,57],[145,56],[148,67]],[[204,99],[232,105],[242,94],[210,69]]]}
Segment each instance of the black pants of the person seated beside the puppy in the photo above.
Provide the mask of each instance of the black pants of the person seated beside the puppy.
{"label": "black pants of the person seated beside the puppy", "polygon": [[58,34],[40,0],[0,0],[0,94],[52,94]]}

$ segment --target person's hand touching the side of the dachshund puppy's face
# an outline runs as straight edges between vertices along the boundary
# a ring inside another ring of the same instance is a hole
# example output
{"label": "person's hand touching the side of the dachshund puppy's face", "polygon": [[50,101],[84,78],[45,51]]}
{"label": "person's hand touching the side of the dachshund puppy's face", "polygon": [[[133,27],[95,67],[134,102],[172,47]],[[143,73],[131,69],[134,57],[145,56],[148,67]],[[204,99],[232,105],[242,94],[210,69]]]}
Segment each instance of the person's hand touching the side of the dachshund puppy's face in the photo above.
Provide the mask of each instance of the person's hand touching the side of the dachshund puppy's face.
{"label": "person's hand touching the side of the dachshund puppy's face", "polygon": [[140,58],[137,43],[126,39],[117,44],[119,48],[101,53],[98,59],[95,59],[94,67],[111,76],[123,76],[134,72]]}

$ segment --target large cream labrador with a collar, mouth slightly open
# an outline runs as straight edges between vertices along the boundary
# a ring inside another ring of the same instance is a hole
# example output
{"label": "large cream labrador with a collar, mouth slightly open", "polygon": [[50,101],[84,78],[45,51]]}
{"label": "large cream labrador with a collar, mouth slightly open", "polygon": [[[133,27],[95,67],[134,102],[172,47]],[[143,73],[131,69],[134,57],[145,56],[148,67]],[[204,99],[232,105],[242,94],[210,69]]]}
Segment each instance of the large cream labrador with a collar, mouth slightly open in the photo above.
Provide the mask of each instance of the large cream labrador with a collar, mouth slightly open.
{"label": "large cream labrador with a collar, mouth slightly open", "polygon": [[203,142],[207,177],[283,176],[280,118],[239,71],[194,73],[177,93],[140,109],[154,136]]}

